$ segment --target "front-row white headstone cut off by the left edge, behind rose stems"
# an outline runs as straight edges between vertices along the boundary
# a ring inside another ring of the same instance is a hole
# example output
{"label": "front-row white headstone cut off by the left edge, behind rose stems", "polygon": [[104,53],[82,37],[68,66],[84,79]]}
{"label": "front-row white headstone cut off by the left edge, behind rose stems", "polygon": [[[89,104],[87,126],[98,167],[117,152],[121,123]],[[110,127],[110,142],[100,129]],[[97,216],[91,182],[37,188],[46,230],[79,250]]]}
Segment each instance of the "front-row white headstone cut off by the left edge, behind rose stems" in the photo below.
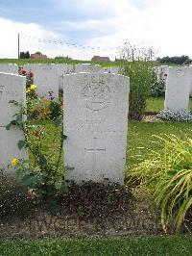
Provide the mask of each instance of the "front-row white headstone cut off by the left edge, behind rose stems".
{"label": "front-row white headstone cut off by the left edge, behind rose stems", "polygon": [[10,100],[25,104],[26,78],[23,76],[0,73],[0,169],[6,173],[12,173],[12,158],[27,159],[27,150],[19,150],[17,143],[23,140],[22,132],[12,126],[6,130],[6,126],[12,121],[12,115],[18,113],[19,109]]}

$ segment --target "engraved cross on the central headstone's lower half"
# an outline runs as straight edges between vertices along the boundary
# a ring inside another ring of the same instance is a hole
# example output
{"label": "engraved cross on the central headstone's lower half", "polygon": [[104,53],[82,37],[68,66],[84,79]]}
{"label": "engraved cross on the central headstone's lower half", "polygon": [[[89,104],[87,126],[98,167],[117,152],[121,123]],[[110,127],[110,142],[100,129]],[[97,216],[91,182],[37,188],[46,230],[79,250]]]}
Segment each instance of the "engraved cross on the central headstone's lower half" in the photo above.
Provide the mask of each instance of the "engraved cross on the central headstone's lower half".
{"label": "engraved cross on the central headstone's lower half", "polygon": [[98,153],[103,153],[106,151],[105,147],[99,147],[97,146],[97,140],[98,138],[93,138],[93,146],[91,148],[84,148],[85,152],[92,153],[92,169],[91,171],[97,171],[98,169],[98,164],[97,163],[97,154]]}

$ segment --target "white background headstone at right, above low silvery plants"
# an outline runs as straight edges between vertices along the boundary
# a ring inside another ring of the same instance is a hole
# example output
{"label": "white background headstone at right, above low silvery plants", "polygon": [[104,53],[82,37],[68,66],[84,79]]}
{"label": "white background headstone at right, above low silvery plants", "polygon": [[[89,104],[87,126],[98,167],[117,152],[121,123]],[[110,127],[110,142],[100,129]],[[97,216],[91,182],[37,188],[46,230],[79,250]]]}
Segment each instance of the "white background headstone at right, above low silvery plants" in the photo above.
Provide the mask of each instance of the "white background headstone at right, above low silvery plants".
{"label": "white background headstone at right, above low silvery plants", "polygon": [[173,111],[188,110],[192,89],[192,68],[170,66],[166,81],[164,108]]}

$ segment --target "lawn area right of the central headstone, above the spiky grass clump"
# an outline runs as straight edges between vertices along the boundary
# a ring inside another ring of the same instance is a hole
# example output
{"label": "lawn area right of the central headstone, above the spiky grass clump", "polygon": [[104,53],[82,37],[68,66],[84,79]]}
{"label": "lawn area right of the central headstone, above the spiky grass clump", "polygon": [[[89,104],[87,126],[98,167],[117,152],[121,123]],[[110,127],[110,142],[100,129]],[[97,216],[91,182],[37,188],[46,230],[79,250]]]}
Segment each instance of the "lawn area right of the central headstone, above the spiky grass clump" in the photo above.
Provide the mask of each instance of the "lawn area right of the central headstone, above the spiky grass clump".
{"label": "lawn area right of the central headstone, above the spiky grass clump", "polygon": [[144,160],[149,150],[158,150],[162,143],[154,136],[174,134],[184,138],[192,137],[191,122],[139,122],[130,121],[128,126],[128,148],[127,148],[127,166],[130,170],[132,165]]}

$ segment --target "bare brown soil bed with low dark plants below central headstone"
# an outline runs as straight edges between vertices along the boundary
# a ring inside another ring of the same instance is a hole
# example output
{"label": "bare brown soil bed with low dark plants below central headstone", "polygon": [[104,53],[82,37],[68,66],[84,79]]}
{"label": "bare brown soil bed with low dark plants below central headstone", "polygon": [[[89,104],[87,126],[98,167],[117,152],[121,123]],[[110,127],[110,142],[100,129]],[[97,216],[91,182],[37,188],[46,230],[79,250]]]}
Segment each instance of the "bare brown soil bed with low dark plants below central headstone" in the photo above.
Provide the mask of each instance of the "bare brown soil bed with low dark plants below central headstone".
{"label": "bare brown soil bed with low dark plants below central headstone", "polygon": [[[5,192],[4,192],[5,193]],[[0,239],[163,234],[146,194],[85,183],[63,198],[37,201],[16,185],[0,198]],[[2,193],[1,193],[2,195]]]}

